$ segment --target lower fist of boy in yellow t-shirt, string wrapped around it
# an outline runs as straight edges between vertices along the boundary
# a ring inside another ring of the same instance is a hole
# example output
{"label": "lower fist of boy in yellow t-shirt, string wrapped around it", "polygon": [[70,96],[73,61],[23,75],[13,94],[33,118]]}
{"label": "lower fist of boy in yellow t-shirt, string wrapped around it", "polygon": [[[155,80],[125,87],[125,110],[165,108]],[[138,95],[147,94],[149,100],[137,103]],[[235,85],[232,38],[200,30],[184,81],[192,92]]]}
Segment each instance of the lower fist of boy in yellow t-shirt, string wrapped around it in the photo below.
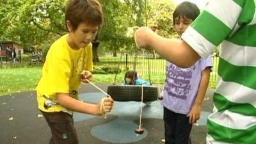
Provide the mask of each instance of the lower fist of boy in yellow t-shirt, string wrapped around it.
{"label": "lower fist of boy in yellow t-shirt, string wrapped around it", "polygon": [[98,104],[100,115],[111,112],[113,105],[114,100],[111,97],[103,98]]}

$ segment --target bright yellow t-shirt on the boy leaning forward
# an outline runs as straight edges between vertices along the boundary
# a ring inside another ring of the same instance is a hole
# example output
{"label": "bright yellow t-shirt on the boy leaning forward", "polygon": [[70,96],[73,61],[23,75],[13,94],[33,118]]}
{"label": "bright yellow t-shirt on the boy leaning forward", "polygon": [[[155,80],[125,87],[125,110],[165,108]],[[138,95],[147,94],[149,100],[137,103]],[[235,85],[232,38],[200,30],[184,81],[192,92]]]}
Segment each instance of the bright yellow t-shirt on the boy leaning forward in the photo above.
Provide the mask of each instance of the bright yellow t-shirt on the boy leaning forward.
{"label": "bright yellow t-shirt on the boy leaning forward", "polygon": [[67,35],[61,36],[49,49],[37,91],[38,108],[45,112],[66,111],[59,104],[45,108],[45,101],[56,101],[56,93],[69,93],[78,99],[77,90],[81,84],[81,72],[92,71],[92,44],[79,50],[72,49]]}

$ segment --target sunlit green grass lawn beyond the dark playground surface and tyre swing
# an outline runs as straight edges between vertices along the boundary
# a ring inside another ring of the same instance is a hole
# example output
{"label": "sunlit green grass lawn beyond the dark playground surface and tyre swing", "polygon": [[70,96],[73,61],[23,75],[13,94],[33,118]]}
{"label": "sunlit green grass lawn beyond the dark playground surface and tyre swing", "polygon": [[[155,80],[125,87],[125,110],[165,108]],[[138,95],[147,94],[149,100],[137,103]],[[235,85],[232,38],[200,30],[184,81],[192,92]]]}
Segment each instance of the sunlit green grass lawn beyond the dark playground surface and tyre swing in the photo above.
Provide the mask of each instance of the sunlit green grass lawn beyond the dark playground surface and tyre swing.
{"label": "sunlit green grass lawn beyond the dark playground surface and tyre swing", "polygon": [[[42,76],[42,67],[31,68],[3,68],[0,69],[0,96],[10,95],[10,93],[19,93],[29,90],[35,90],[40,77]],[[141,75],[140,75],[141,76]],[[145,80],[148,80],[148,76]],[[157,83],[157,76],[150,76],[152,83]],[[115,74],[93,74],[93,83],[112,84]],[[159,77],[161,83],[164,82],[164,76]],[[116,83],[124,81],[124,72],[116,75]]]}

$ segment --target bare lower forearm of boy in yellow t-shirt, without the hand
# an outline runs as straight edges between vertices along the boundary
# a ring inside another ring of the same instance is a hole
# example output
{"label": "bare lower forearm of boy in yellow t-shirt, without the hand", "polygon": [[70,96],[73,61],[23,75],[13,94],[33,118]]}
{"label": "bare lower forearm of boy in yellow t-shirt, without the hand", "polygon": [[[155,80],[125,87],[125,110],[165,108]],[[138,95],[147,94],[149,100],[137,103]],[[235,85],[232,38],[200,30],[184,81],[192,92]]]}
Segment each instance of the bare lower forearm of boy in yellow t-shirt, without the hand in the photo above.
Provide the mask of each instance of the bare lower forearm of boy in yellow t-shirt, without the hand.
{"label": "bare lower forearm of boy in yellow t-shirt, without the hand", "polygon": [[70,109],[72,111],[77,111],[79,113],[88,113],[90,115],[100,115],[100,111],[97,104],[89,104],[81,102],[77,99],[69,97],[66,93],[60,93],[57,95],[58,102],[64,108]]}

